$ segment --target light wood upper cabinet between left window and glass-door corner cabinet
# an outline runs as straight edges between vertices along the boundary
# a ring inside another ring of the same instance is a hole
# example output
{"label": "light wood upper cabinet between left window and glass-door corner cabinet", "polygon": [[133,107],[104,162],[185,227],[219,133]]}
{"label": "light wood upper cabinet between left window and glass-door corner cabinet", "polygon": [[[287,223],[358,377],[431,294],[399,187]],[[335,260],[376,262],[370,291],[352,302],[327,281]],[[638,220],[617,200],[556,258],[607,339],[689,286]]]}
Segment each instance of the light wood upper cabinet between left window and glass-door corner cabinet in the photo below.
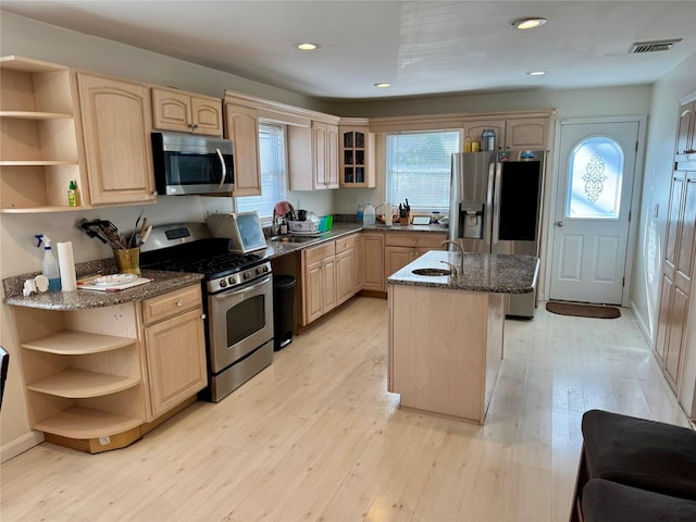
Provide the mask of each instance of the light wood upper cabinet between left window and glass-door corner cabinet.
{"label": "light wood upper cabinet between left window and glass-door corner cabinet", "polygon": [[287,137],[290,190],[338,188],[338,125],[289,125]]}

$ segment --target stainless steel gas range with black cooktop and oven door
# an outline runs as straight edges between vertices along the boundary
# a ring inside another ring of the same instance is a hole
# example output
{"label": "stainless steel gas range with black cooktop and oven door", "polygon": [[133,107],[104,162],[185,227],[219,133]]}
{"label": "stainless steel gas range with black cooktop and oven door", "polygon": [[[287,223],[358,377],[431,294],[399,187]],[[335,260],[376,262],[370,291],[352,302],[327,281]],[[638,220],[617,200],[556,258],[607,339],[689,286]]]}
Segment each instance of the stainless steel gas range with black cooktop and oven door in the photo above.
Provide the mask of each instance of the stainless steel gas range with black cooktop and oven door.
{"label": "stainless steel gas range with black cooktop and oven door", "polygon": [[209,386],[201,399],[217,402],[273,362],[271,262],[232,251],[204,223],[152,229],[141,247],[140,266],[204,274]]}

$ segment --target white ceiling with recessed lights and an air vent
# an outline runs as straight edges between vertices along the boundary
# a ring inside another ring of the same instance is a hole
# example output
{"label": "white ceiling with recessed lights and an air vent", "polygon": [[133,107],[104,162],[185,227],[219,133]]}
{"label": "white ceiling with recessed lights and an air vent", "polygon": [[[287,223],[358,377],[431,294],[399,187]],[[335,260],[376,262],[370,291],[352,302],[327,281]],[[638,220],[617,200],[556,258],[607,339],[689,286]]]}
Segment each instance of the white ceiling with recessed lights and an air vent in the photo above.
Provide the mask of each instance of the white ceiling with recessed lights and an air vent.
{"label": "white ceiling with recessed lights and an air vent", "polygon": [[[2,0],[0,8],[320,98],[646,84],[696,52],[696,1]],[[524,16],[548,23],[513,29]],[[627,52],[672,38],[682,41],[669,51]],[[301,41],[321,48],[294,49]],[[526,75],[535,70],[548,74]]]}

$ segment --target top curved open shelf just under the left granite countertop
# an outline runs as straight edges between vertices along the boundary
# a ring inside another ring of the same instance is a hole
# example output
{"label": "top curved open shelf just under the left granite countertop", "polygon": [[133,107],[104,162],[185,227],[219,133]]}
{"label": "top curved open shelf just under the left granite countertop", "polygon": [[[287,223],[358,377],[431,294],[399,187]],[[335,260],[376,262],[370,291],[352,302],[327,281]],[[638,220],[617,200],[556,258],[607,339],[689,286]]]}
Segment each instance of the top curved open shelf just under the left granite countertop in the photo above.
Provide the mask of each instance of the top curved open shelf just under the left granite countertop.
{"label": "top curved open shelf just under the left granite countertop", "polygon": [[39,339],[24,341],[22,347],[59,356],[85,356],[125,348],[135,341],[127,337],[64,330]]}

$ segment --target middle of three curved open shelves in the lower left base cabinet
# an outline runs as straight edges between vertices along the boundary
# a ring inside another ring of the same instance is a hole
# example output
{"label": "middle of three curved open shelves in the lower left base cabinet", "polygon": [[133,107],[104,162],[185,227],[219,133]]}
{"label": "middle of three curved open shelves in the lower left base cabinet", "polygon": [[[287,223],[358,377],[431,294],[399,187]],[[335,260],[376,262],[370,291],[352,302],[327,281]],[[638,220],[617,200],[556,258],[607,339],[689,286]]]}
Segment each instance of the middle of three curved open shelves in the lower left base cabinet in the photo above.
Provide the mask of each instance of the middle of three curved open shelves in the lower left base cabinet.
{"label": "middle of three curved open shelves in the lower left base cabinet", "polygon": [[138,384],[140,384],[140,378],[138,377],[123,377],[121,375],[69,368],[50,377],[30,384],[27,388],[40,394],[54,395],[67,399],[82,399],[115,394]]}

